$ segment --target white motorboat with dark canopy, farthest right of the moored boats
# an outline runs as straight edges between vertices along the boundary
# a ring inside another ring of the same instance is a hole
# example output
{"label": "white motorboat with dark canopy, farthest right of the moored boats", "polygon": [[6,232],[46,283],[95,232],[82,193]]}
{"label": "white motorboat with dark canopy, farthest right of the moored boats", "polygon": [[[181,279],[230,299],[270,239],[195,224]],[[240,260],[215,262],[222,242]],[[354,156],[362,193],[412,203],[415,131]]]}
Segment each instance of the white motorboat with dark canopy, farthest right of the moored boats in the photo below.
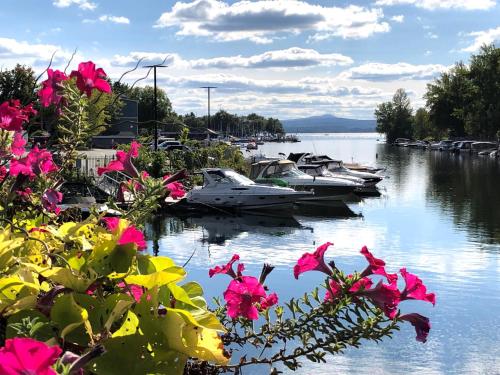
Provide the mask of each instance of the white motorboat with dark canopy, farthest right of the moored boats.
{"label": "white motorboat with dark canopy, farthest right of the moored boats", "polygon": [[[364,187],[374,187],[382,177],[369,172],[353,171],[344,166],[341,160],[333,160],[326,155],[313,155],[310,153],[290,154],[288,159],[293,160],[297,165],[324,165],[328,171],[334,174],[332,177],[356,177],[363,180]],[[326,176],[325,176],[326,177]]]}

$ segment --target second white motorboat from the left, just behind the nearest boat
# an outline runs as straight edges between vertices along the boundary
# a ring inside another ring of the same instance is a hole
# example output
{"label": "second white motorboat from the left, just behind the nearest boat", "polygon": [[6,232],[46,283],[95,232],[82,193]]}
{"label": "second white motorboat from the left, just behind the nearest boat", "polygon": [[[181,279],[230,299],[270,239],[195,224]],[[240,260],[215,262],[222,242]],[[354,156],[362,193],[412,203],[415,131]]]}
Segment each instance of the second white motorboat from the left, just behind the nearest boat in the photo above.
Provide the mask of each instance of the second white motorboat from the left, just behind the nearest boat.
{"label": "second white motorboat from the left, just behind the nearest boat", "polygon": [[250,178],[259,183],[290,186],[297,191],[313,191],[301,201],[346,200],[362,184],[334,177],[312,177],[290,160],[264,160],[252,164]]}

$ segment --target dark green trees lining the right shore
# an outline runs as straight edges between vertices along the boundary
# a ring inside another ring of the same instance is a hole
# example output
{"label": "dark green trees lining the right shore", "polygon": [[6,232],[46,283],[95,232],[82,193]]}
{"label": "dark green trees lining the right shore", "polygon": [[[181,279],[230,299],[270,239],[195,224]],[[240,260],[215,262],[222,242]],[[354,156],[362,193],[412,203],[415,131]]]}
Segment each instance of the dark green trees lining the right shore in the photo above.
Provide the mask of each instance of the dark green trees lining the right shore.
{"label": "dark green trees lining the right shore", "polygon": [[404,89],[375,110],[377,131],[396,138],[500,138],[500,48],[484,45],[427,84],[425,107],[413,113]]}

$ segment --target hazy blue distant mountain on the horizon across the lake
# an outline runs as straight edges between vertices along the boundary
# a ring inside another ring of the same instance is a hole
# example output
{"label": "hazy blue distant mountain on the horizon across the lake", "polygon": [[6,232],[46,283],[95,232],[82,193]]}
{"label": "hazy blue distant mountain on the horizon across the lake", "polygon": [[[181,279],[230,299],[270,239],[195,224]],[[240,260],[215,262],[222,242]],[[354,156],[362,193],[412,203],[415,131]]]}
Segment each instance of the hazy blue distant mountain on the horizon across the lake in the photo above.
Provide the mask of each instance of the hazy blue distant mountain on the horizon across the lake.
{"label": "hazy blue distant mountain on the horizon across the lake", "polygon": [[287,133],[368,133],[374,132],[375,120],[353,120],[333,115],[282,120]]}

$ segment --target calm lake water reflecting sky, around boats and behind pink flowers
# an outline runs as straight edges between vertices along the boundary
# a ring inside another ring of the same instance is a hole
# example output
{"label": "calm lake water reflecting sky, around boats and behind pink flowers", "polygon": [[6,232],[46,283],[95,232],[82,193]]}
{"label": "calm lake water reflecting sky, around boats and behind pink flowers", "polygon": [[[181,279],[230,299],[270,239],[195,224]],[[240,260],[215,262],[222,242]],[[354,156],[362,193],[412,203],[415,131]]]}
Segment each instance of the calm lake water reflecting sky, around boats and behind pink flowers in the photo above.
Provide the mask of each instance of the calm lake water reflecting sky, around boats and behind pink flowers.
{"label": "calm lake water reflecting sky, around boats and behind pink flowers", "polygon": [[272,263],[276,269],[267,284],[285,301],[323,279],[317,272],[293,278],[302,253],[331,241],[328,257],[349,272],[365,268],[359,250],[367,245],[389,270],[406,266],[436,293],[435,307],[401,305],[403,312],[431,319],[427,343],[416,342],[413,327],[405,324],[393,339],[350,349],[327,364],[304,361],[297,373],[500,374],[500,162],[391,147],[376,134],[299,137],[301,143],[270,143],[257,153],[315,152],[386,168],[382,195],[349,203],[356,214],[351,217],[166,217],[147,228],[148,238],[156,239],[150,251],[157,246],[180,264],[194,253],[186,266],[189,278],[204,286],[208,298],[221,296],[229,282],[209,279],[208,268],[232,254],[256,276],[263,262]]}

